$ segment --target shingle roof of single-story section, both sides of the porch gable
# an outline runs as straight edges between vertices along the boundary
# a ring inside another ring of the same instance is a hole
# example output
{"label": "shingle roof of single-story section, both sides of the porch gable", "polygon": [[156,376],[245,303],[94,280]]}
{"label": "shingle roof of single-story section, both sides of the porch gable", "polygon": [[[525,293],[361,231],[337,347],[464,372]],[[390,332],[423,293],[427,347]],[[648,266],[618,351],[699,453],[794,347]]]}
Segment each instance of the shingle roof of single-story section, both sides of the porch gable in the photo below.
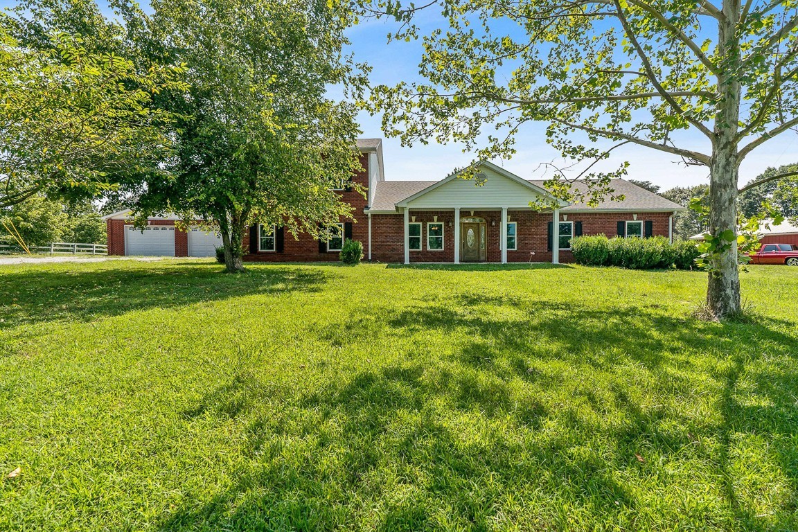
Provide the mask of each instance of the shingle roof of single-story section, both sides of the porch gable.
{"label": "shingle roof of single-story section, both sides of the porch gable", "polygon": [[[359,147],[359,141],[358,141]],[[543,187],[543,179],[527,179],[529,183]],[[374,199],[370,206],[371,211],[395,211],[396,204],[402,199],[409,198],[417,192],[421,192],[437,181],[379,181],[377,190],[374,191]],[[645,188],[638,187],[625,179],[613,179],[610,186],[615,193],[626,196],[622,201],[612,201],[607,199],[601,203],[598,209],[612,211],[678,211],[684,209],[681,205],[674,203],[661,195],[647,191]],[[545,188],[545,187],[543,187]],[[585,183],[574,183],[574,188],[578,191],[587,189]],[[563,211],[576,211],[591,209],[585,203],[575,203],[568,207],[563,207]]]}

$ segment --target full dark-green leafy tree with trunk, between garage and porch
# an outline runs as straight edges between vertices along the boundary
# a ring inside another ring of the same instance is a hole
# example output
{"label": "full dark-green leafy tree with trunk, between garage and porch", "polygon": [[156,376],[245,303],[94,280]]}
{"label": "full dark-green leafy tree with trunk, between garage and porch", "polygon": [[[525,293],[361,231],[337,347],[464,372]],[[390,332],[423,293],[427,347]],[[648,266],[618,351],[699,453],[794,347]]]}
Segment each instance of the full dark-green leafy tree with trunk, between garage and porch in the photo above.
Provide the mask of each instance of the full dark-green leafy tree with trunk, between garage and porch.
{"label": "full dark-green leafy tree with trunk, between garage and porch", "polygon": [[184,116],[169,179],[148,180],[141,217],[175,211],[218,225],[227,270],[242,270],[251,223],[320,235],[350,207],[332,189],[360,168],[354,104],[361,65],[342,55],[347,10],[313,0],[152,2],[128,26],[141,53],[188,65],[190,89],[161,105]]}

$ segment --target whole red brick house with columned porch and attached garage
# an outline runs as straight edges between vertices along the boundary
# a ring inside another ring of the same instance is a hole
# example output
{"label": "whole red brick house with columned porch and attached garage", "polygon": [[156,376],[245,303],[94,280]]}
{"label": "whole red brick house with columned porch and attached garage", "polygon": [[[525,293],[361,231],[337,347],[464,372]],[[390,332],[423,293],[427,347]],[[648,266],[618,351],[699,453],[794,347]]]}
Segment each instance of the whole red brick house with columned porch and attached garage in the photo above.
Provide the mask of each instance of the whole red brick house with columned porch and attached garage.
{"label": "whole red brick house with columned porch and attached garage", "polygon": [[[363,243],[365,257],[374,262],[571,262],[573,236],[672,238],[674,212],[684,208],[624,179],[611,183],[625,196],[622,201],[571,204],[553,199],[542,180],[521,179],[488,162],[476,168],[480,185],[456,174],[434,181],[386,181],[381,140],[358,140],[358,151],[363,171],[352,181],[365,187],[365,197],[346,187],[339,191],[353,207],[350,219],[339,220],[330,238],[321,240],[294,237],[282,227],[253,226],[244,238],[244,260],[337,261],[342,241],[352,238]],[[558,207],[530,207],[541,199]],[[109,254],[207,256],[219,242],[197,228],[177,231],[168,217],[136,230],[126,222],[128,214],[106,217]]]}

